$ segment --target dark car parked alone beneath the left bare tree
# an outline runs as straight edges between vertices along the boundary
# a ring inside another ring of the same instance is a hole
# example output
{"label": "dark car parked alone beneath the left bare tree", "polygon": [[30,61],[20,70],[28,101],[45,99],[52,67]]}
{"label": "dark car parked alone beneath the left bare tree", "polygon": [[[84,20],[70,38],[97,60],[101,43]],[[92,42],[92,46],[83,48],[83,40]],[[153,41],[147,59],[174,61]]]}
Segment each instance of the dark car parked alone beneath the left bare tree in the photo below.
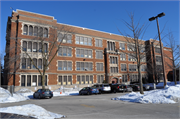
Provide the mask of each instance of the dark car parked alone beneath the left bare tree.
{"label": "dark car parked alone beneath the left bare tree", "polygon": [[33,94],[34,98],[52,98],[53,97],[53,92],[49,89],[38,89],[36,92]]}

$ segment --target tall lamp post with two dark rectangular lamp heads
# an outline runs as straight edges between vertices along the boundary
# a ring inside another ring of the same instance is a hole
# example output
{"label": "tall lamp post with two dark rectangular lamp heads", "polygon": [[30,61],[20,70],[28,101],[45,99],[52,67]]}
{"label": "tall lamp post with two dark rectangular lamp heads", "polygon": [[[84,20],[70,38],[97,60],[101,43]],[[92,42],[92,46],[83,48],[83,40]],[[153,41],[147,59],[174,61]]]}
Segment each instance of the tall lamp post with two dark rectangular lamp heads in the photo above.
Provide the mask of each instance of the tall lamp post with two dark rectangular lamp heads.
{"label": "tall lamp post with two dark rectangular lamp heads", "polygon": [[162,12],[158,14],[155,17],[149,18],[149,21],[153,21],[156,19],[157,22],[157,28],[158,28],[158,34],[159,34],[159,43],[160,43],[160,50],[161,50],[161,60],[162,60],[162,69],[163,69],[163,78],[164,78],[164,87],[166,86],[166,79],[165,79],[165,70],[164,70],[164,58],[163,58],[163,50],[162,50],[162,44],[161,44],[161,35],[160,35],[160,30],[159,30],[159,22],[158,22],[158,17],[165,16],[165,13]]}

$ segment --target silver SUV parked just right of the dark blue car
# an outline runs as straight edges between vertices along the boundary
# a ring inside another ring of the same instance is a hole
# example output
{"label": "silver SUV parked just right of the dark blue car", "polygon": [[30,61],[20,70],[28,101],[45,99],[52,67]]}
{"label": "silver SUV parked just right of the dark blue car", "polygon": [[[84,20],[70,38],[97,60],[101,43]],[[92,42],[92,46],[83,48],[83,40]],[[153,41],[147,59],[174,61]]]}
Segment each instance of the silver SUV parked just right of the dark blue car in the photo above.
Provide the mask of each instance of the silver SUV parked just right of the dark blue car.
{"label": "silver SUV parked just right of the dark blue car", "polygon": [[111,87],[109,84],[95,84],[92,86],[93,88],[99,89],[99,93],[102,92],[111,92]]}

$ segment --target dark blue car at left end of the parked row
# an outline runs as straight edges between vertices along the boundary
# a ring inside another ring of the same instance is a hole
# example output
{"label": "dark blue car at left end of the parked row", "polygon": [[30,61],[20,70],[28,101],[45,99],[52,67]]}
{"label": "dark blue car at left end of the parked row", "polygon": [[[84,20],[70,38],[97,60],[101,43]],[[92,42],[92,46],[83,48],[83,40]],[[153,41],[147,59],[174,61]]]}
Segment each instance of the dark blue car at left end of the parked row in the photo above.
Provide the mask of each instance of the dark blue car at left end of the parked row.
{"label": "dark blue car at left end of the parked row", "polygon": [[93,87],[84,87],[79,91],[79,95],[83,95],[83,94],[91,95],[91,94],[98,94],[98,93],[99,93],[99,89],[96,89]]}

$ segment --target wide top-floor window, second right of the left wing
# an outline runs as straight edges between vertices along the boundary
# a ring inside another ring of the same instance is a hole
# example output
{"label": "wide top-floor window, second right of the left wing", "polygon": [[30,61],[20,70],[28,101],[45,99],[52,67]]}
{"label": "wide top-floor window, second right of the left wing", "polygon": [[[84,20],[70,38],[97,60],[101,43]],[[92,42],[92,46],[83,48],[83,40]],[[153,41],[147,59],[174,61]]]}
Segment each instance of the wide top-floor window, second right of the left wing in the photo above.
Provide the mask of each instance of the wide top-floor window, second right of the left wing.
{"label": "wide top-floor window, second right of the left wing", "polygon": [[76,44],[80,44],[80,45],[92,45],[92,39],[88,38],[88,37],[84,37],[84,36],[76,36]]}

